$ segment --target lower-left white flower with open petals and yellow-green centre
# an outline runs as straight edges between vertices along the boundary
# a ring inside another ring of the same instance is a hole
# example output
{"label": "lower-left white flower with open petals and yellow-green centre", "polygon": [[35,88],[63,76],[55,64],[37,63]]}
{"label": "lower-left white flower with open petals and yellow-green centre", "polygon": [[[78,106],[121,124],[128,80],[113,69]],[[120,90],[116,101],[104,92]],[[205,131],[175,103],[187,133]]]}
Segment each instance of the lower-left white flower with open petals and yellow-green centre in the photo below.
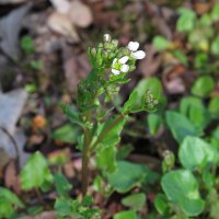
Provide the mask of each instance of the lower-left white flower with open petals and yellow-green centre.
{"label": "lower-left white flower with open petals and yellow-green centre", "polygon": [[118,76],[120,72],[128,72],[129,66],[126,64],[128,59],[128,56],[124,56],[120,59],[114,58],[112,65],[112,72],[116,76]]}

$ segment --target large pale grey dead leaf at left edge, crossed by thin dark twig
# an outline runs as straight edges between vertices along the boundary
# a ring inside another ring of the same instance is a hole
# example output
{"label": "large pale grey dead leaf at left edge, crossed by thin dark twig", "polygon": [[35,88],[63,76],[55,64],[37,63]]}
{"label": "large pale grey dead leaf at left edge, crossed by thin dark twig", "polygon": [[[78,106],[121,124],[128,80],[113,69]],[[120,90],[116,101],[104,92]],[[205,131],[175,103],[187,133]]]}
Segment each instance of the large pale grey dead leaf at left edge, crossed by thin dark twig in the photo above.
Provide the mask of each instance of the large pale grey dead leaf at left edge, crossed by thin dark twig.
{"label": "large pale grey dead leaf at left edge, crossed by thin dark twig", "polygon": [[[14,90],[9,93],[0,93],[0,126],[4,128],[10,136],[0,130],[0,148],[3,148],[11,158],[16,158],[16,150],[14,142],[16,142],[18,152],[20,157],[20,165],[23,165],[28,157],[23,151],[26,137],[22,129],[19,129],[15,125],[22,113],[22,108],[26,102],[27,93],[24,90]],[[11,137],[11,138],[10,138]]]}

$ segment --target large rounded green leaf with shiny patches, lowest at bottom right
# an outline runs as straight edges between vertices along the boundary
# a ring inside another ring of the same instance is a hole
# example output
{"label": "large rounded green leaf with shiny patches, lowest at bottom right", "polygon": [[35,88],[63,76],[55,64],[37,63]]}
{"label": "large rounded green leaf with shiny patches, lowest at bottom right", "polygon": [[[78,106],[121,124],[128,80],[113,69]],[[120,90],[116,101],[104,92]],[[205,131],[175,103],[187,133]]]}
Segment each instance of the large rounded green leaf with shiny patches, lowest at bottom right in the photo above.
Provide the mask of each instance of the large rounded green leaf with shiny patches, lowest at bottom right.
{"label": "large rounded green leaf with shiny patches, lowest at bottom right", "polygon": [[171,171],[163,175],[161,185],[168,198],[186,216],[193,217],[203,212],[205,201],[200,198],[198,183],[189,171]]}

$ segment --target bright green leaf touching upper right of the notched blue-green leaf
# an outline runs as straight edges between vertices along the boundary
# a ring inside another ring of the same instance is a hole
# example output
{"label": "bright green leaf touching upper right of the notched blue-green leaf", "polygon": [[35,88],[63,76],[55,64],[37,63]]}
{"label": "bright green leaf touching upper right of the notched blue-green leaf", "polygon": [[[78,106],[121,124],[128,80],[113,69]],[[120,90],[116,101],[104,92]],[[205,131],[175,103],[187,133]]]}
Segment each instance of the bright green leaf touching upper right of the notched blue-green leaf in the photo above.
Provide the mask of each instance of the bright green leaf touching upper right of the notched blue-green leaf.
{"label": "bright green leaf touching upper right of the notched blue-green leaf", "polygon": [[203,131],[210,122],[210,115],[203,101],[195,96],[186,96],[181,101],[180,112],[185,115],[198,131]]}

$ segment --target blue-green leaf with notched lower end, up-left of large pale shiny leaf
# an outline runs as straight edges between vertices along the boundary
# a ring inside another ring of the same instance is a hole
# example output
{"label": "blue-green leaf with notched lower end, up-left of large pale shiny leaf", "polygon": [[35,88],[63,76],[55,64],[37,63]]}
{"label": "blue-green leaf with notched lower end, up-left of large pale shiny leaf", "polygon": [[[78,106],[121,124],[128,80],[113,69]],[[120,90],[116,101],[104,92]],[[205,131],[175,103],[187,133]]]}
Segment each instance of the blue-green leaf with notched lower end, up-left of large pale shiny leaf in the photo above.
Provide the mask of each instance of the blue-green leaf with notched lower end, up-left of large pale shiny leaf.
{"label": "blue-green leaf with notched lower end, up-left of large pale shiny leaf", "polygon": [[165,113],[165,118],[173,137],[178,142],[182,142],[186,136],[198,135],[194,125],[184,115],[173,111],[168,111]]}

